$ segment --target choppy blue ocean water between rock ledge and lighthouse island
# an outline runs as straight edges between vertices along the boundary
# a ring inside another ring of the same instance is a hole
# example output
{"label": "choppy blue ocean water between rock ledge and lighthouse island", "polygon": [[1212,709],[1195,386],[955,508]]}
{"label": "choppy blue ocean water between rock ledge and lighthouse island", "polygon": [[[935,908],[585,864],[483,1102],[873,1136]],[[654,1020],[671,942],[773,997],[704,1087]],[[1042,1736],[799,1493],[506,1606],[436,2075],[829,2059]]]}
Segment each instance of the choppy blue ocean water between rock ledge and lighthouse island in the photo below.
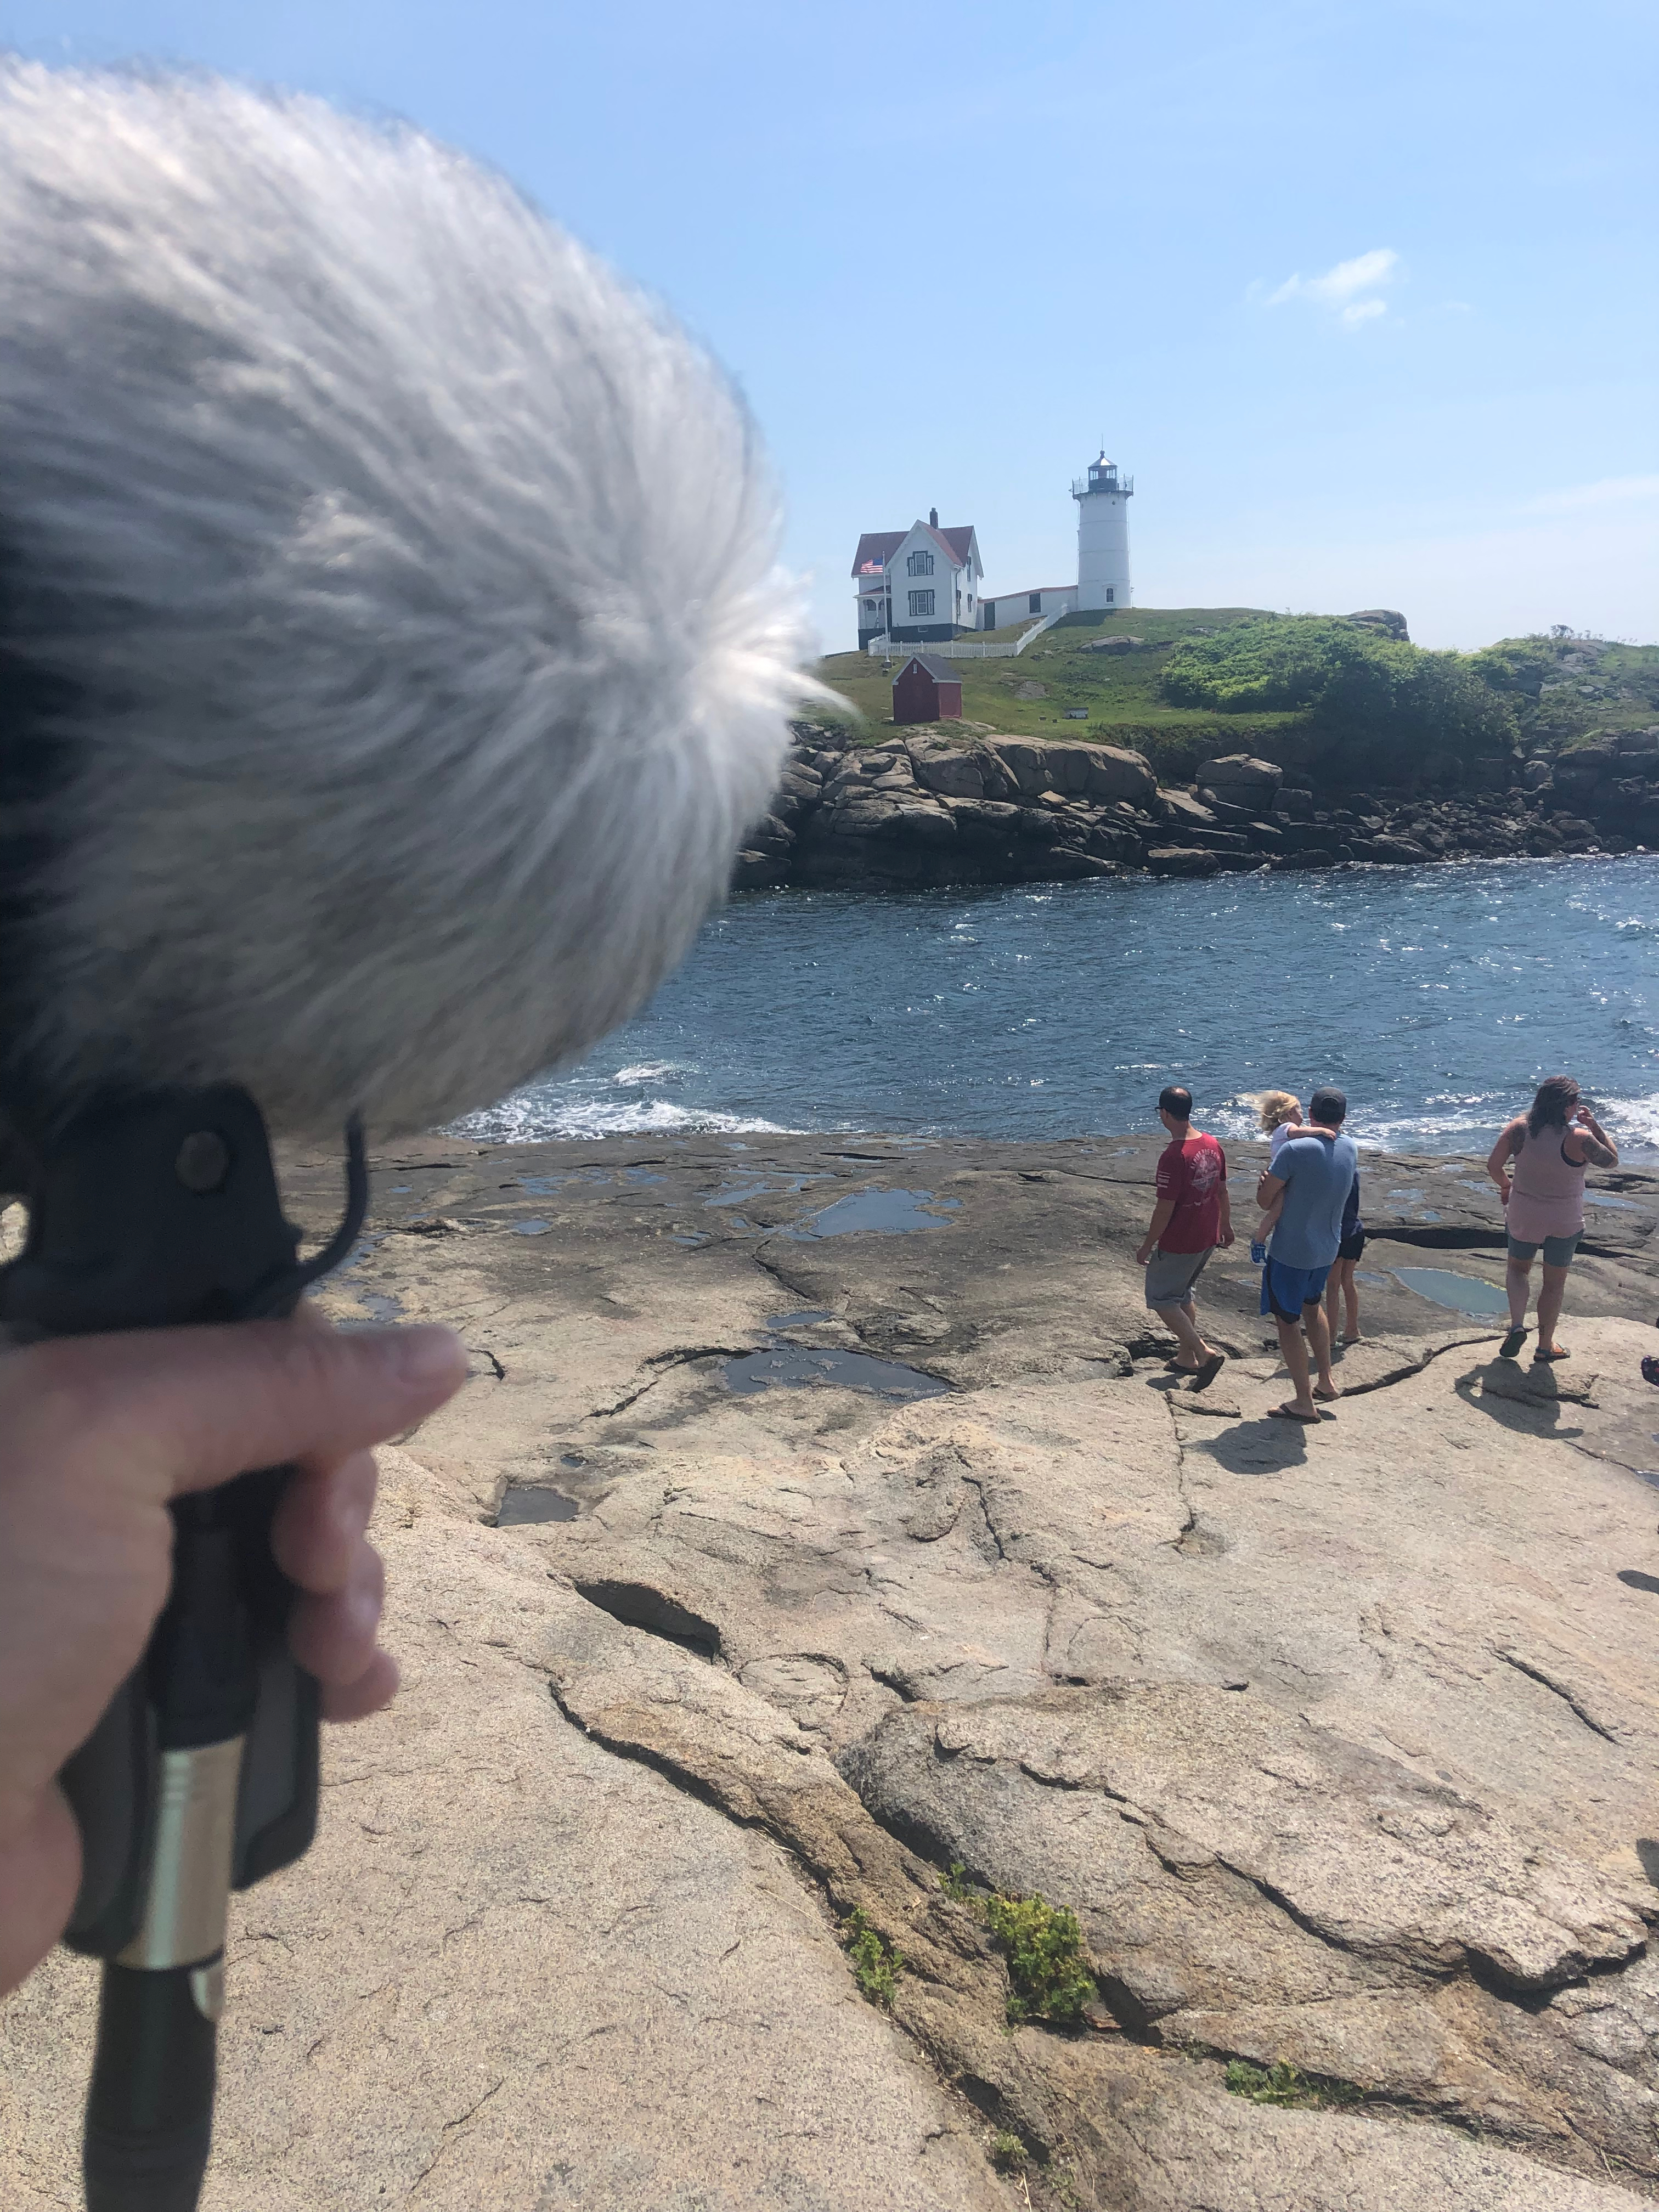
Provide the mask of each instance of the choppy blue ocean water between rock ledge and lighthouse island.
{"label": "choppy blue ocean water between rock ledge and lighthouse island", "polygon": [[1254,1130],[1347,1091],[1394,1150],[1484,1150],[1557,1068],[1659,1157],[1659,856],[737,900],[637,1020],[487,1137]]}

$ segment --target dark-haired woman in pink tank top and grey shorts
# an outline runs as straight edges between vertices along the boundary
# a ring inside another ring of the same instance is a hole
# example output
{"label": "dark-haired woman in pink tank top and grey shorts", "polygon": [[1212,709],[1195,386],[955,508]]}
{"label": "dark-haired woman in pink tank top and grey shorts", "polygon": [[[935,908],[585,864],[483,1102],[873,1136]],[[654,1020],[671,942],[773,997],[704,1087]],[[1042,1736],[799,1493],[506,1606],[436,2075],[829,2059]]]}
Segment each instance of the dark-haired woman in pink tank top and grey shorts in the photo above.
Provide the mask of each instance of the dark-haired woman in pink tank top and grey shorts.
{"label": "dark-haired woman in pink tank top and grey shorts", "polygon": [[1533,1261],[1544,1254],[1544,1287],[1537,1294],[1537,1360],[1564,1360],[1555,1343],[1562,1318],[1566,1270],[1584,1234],[1584,1170],[1617,1168],[1619,1148],[1588,1106],[1571,1075],[1548,1075],[1533,1106],[1504,1128],[1491,1148],[1486,1175],[1509,1210],[1509,1336],[1498,1356],[1513,1360],[1526,1343],[1526,1292]]}

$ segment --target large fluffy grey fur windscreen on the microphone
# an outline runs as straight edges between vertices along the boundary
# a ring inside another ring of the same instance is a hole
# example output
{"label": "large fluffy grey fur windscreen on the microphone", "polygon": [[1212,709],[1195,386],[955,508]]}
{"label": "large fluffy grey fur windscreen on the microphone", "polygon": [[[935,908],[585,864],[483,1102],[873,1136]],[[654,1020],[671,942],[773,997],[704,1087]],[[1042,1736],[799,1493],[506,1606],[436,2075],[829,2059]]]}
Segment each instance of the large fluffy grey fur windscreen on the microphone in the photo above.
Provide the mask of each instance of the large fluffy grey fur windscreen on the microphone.
{"label": "large fluffy grey fur windscreen on the microphone", "polygon": [[500,177],[0,69],[13,1068],[427,1128],[684,953],[803,690],[717,367]]}

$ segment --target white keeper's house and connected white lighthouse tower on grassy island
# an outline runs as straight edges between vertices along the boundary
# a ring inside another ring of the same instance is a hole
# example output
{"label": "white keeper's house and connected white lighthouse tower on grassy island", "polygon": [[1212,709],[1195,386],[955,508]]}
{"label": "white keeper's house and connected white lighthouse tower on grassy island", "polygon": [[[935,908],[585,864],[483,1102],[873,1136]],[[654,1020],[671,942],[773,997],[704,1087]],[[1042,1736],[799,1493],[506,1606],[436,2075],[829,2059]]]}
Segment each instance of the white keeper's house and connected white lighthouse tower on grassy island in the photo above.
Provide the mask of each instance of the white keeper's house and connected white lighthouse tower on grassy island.
{"label": "white keeper's house and connected white lighthouse tower on grassy island", "polygon": [[1077,582],[982,591],[980,540],[971,522],[940,529],[938,507],[907,531],[865,531],[852,557],[858,586],[858,650],[889,637],[933,646],[969,630],[998,630],[1051,615],[1110,613],[1130,604],[1128,502],[1135,478],[1106,453],[1075,478]]}

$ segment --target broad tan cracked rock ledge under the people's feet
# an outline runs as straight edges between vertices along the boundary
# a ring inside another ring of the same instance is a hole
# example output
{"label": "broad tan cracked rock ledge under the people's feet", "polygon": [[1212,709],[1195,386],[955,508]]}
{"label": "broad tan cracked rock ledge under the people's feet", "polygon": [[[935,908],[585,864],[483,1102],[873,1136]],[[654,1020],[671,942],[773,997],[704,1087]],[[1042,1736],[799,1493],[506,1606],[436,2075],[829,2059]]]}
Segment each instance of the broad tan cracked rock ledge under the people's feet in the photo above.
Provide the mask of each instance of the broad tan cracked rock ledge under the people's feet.
{"label": "broad tan cracked rock ledge under the people's feet", "polygon": [[[1502,1281],[1478,1164],[1365,1155],[1310,1431],[1243,1245],[1221,1378],[1166,1369],[1159,1144],[376,1166],[325,1303],[473,1374],[385,1455],[405,1697],[237,1905],[208,2205],[1659,2194],[1659,1186],[1597,1177],[1535,1374],[1451,1303]],[[336,1186],[288,1164],[303,1221]],[[1009,2031],[993,1889],[1077,1916],[1075,2028]],[[58,1958],[4,2015],[7,2205],[73,2201],[88,1993]]]}

